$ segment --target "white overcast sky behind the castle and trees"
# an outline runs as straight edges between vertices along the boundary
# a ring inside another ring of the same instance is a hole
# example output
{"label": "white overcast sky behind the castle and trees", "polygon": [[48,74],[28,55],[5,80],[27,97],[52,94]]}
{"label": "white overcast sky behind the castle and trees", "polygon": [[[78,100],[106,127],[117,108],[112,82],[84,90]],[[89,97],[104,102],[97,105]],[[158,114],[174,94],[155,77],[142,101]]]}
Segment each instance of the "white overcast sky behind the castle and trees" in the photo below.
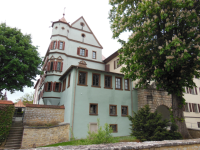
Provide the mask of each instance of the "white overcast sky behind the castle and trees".
{"label": "white overcast sky behind the castle and trees", "polygon": [[[112,39],[108,12],[111,6],[108,0],[4,0],[0,5],[0,23],[21,29],[23,34],[31,34],[33,45],[39,46],[40,56],[45,56],[52,33],[51,21],[58,21],[63,16],[73,23],[83,16],[96,38],[103,46],[103,55],[110,56],[121,45]],[[128,33],[121,36],[128,38]],[[37,79],[39,76],[37,77]],[[36,83],[36,81],[34,81]],[[15,102],[25,93],[34,92],[34,87],[24,88],[24,92],[7,92],[8,100]],[[4,93],[4,92],[3,92]]]}

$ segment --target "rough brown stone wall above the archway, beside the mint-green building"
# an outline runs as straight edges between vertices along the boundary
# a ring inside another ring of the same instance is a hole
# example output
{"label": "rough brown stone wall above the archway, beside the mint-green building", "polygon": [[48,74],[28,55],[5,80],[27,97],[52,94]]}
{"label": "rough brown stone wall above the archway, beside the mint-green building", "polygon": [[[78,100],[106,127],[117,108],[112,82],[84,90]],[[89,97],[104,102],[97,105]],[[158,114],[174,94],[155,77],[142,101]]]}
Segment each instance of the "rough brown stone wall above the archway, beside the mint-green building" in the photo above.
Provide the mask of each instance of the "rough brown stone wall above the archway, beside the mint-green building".
{"label": "rough brown stone wall above the archway, beside the mint-green building", "polygon": [[138,110],[146,104],[149,104],[151,112],[154,112],[160,105],[165,105],[168,108],[172,106],[172,96],[162,89],[156,90],[153,85],[147,89],[135,90],[138,92]]}

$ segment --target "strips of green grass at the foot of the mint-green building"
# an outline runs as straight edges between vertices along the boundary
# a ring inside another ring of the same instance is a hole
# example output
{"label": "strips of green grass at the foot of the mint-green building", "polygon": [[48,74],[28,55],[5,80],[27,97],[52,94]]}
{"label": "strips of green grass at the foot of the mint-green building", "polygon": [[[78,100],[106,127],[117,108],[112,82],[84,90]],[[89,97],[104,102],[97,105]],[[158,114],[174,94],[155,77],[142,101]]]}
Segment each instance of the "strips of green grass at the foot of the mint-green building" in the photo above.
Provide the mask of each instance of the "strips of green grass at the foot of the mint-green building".
{"label": "strips of green grass at the foot of the mint-green building", "polygon": [[[118,142],[140,142],[133,136],[123,136],[123,137],[114,137],[114,143]],[[83,143],[83,144],[82,144]],[[74,140],[69,142],[63,142],[63,143],[56,143],[51,145],[46,145],[43,147],[55,147],[55,146],[68,146],[68,145],[84,145],[85,139],[80,140]]]}

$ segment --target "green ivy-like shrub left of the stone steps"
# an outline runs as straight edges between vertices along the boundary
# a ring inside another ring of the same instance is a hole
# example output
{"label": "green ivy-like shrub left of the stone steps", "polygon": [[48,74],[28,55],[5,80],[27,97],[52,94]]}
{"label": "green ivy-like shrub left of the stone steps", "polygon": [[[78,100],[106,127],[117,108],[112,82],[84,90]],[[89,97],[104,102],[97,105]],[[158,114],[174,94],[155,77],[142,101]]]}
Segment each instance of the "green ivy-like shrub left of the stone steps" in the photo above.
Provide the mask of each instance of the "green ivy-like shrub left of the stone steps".
{"label": "green ivy-like shrub left of the stone steps", "polygon": [[0,105],[0,145],[9,134],[14,111],[14,105]]}

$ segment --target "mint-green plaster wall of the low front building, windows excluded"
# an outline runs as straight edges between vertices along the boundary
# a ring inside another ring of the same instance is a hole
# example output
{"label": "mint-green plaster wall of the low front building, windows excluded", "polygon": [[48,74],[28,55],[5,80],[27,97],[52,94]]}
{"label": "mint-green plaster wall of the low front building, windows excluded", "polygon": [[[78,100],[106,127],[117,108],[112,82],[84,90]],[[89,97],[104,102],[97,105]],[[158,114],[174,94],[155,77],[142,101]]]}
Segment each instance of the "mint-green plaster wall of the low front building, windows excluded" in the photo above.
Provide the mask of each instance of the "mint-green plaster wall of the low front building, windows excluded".
{"label": "mint-green plaster wall of the low front building, windows excluded", "polygon": [[[78,71],[88,72],[87,85],[79,86],[78,82]],[[112,133],[113,136],[127,136],[130,135],[130,121],[127,117],[121,116],[121,106],[128,106],[128,114],[131,115],[131,91],[124,90],[124,78],[122,78],[123,90],[115,90],[115,77],[123,77],[122,75],[116,75],[105,72],[91,71],[87,69],[78,69],[77,80],[72,79],[74,85],[76,84],[75,91],[75,111],[74,111],[74,136],[78,139],[86,138],[89,123],[97,123],[97,118],[100,119],[100,126],[104,126],[105,123],[117,124],[118,132]],[[75,69],[73,69],[73,74],[75,77]],[[91,87],[92,85],[92,73],[101,74],[101,88]],[[112,76],[112,87],[113,89],[104,89],[104,75]],[[72,85],[70,85],[72,86]],[[71,88],[73,88],[73,86]],[[72,89],[73,91],[73,89]],[[73,92],[71,93],[73,94]],[[65,94],[64,94],[65,95]],[[137,112],[137,95],[136,91],[133,91],[133,111]],[[67,96],[66,96],[67,97]],[[73,96],[71,96],[71,115],[67,113],[70,112],[68,106],[65,105],[65,115],[70,117],[70,125],[72,125],[72,114],[73,114]],[[89,115],[89,105],[90,103],[98,104],[98,115]],[[66,103],[67,104],[67,103]],[[109,115],[109,105],[117,105],[117,116]],[[68,103],[70,105],[70,102]],[[65,121],[69,119],[65,117]]]}

